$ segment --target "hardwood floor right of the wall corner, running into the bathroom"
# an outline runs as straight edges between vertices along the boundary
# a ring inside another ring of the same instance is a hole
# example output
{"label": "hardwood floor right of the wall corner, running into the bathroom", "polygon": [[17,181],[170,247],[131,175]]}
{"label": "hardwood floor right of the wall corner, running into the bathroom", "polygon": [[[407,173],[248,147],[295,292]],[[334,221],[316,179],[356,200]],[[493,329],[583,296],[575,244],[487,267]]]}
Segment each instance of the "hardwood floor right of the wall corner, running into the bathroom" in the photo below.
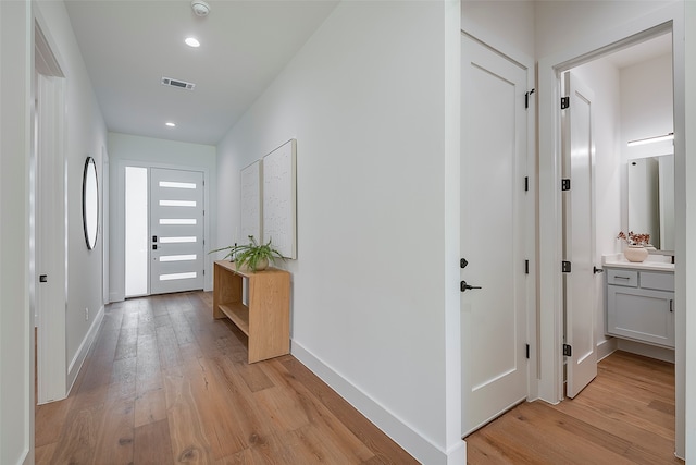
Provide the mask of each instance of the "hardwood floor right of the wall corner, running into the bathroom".
{"label": "hardwood floor right of the wall corner, running into the bathroom", "polygon": [[625,352],[558,405],[518,405],[467,438],[468,463],[684,464],[674,456],[674,366]]}

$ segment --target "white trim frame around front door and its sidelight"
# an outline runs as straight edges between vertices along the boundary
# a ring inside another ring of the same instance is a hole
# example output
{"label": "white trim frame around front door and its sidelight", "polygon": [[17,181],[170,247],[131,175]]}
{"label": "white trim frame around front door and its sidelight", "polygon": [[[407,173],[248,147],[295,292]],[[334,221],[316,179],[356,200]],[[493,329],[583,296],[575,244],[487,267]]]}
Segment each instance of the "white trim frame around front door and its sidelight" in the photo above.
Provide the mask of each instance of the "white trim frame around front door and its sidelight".
{"label": "white trim frame around front door and its sidelight", "polygon": [[[113,168],[113,161],[111,167]],[[153,161],[127,160],[119,159],[115,162],[115,170],[111,170],[111,197],[110,197],[110,216],[111,216],[111,235],[110,235],[110,287],[109,301],[122,302],[125,299],[125,171],[126,167],[141,168],[162,168],[170,170],[200,171],[203,173],[203,250],[210,248],[211,231],[210,231],[210,171],[202,166],[187,166],[174,163],[158,163]],[[115,171],[115,172],[114,172]],[[115,182],[114,182],[115,181]],[[212,262],[210,255],[203,256],[203,290],[212,290]],[[150,285],[148,283],[148,292]]]}

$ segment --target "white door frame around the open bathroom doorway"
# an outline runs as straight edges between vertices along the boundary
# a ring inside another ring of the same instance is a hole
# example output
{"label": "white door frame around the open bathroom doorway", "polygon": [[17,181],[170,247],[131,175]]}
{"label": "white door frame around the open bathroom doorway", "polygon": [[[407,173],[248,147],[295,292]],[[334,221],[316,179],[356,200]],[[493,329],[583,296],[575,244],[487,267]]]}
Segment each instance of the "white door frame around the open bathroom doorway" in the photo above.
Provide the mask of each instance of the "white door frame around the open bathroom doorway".
{"label": "white door frame around the open bathroom doorway", "polygon": [[[675,161],[675,254],[686,257],[686,178],[685,178],[685,70],[684,5],[667,5],[636,21],[579,40],[573,47],[538,61],[539,99],[539,397],[558,403],[562,399],[562,201],[560,155],[560,73],[641,39],[667,30],[675,38],[672,46],[674,79],[674,161]],[[685,261],[678,260],[675,274],[675,391],[678,456],[685,456],[685,344],[686,285]]]}

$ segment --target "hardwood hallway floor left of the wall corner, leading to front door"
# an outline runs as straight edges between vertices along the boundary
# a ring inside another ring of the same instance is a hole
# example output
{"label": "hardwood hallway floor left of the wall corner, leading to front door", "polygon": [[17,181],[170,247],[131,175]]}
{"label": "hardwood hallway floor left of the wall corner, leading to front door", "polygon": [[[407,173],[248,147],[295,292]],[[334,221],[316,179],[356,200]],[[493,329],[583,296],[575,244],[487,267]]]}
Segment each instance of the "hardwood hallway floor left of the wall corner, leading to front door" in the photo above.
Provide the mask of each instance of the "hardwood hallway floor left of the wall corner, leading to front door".
{"label": "hardwood hallway floor left of the wall corner, leading to front door", "polygon": [[210,293],[109,305],[71,395],[36,408],[36,463],[418,463],[293,356],[248,365],[245,344]]}

